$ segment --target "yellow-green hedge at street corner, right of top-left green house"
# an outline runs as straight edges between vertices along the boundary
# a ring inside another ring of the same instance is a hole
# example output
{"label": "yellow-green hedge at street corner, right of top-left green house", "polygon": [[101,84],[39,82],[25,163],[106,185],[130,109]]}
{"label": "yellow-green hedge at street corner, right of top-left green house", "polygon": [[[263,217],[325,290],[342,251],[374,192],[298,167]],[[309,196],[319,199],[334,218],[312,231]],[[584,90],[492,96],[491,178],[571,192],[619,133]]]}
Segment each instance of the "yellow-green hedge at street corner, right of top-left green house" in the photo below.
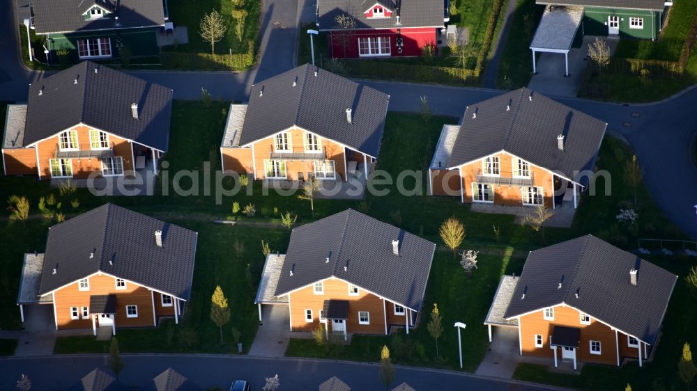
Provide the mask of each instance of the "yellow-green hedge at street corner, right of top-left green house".
{"label": "yellow-green hedge at street corner, right of top-left green house", "polygon": [[254,42],[249,41],[247,53],[209,54],[163,51],[162,65],[169,69],[247,70],[254,65]]}

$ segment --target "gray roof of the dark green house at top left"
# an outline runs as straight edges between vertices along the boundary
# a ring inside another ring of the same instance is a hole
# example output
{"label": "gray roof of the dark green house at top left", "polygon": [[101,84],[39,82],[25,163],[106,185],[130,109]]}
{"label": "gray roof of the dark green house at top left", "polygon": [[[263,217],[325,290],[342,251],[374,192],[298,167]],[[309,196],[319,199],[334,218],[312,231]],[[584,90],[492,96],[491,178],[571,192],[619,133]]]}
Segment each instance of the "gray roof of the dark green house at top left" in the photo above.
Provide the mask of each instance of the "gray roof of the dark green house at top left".
{"label": "gray roof of the dark green house at top left", "polygon": [[[31,0],[31,3],[33,26],[38,34],[164,26],[162,0]],[[94,5],[111,13],[85,19],[82,14]]]}

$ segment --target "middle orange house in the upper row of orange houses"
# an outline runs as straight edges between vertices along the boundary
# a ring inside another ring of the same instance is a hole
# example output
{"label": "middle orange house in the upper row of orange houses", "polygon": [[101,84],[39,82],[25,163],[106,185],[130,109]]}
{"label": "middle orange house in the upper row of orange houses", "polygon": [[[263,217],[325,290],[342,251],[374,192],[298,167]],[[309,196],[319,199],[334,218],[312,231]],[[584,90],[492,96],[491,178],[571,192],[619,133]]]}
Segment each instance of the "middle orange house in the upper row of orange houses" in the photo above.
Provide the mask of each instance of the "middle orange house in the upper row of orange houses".
{"label": "middle orange house in the upper row of orange houses", "polygon": [[254,179],[348,182],[380,152],[390,96],[305,64],[252,86],[231,104],[222,169]]}

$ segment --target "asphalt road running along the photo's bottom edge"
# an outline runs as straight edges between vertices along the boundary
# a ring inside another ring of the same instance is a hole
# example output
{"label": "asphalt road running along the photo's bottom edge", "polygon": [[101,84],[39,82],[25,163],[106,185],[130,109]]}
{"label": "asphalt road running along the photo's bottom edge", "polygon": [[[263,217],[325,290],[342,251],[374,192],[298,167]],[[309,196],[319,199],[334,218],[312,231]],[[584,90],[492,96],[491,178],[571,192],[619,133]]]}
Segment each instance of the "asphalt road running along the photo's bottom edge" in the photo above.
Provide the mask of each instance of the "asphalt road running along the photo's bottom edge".
{"label": "asphalt road running along the photo's bottom edge", "polygon": [[[33,390],[65,390],[95,367],[106,369],[106,356],[51,356],[0,359],[0,390],[14,390],[21,374],[29,376]],[[337,376],[353,390],[381,390],[378,366],[360,362],[335,362],[292,358],[245,358],[240,356],[123,355],[125,367],[119,379],[125,385],[144,385],[172,367],[204,388],[225,387],[245,378],[260,390],[263,378],[278,374],[281,390],[316,390]],[[427,390],[560,390],[532,383],[518,383],[451,371],[397,367],[393,385],[406,381],[419,391]]]}

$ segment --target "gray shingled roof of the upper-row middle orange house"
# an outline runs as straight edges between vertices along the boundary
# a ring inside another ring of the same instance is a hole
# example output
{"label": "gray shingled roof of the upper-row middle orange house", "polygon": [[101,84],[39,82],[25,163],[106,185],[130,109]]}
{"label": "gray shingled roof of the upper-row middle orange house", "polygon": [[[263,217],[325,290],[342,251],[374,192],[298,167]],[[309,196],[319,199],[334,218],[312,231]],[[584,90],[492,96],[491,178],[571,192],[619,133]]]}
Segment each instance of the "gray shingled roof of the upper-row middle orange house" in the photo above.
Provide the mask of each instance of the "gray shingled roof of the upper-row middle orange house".
{"label": "gray shingled roof of the upper-row middle orange house", "polygon": [[[377,157],[389,101],[374,88],[305,64],[252,86],[240,145],[297,125]],[[349,108],[353,123],[346,120]]]}

